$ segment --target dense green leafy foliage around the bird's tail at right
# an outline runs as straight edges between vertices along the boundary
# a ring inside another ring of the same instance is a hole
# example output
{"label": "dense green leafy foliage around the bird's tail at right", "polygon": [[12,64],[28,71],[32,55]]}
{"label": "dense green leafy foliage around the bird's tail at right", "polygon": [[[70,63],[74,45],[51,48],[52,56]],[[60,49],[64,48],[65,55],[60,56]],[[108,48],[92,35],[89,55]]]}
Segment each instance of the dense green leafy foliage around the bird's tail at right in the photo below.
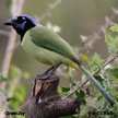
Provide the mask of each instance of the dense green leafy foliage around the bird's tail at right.
{"label": "dense green leafy foliage around the bird's tail at right", "polygon": [[[108,49],[111,52],[111,56],[115,57],[118,54],[118,36],[113,36],[113,33],[110,31],[107,31],[106,37]],[[82,47],[80,45],[75,46],[75,50],[80,51]],[[108,60],[111,60],[111,56],[109,55],[107,59],[104,60],[97,52],[95,52],[92,57],[82,54],[81,59],[86,63],[86,68],[93,73],[95,73],[101,67],[104,66],[104,63],[106,63]],[[72,74],[71,76],[73,76]],[[87,83],[84,85],[83,88],[78,88],[78,91],[75,91],[74,94],[70,96],[79,97],[79,99],[81,101],[82,105],[80,115],[68,116],[62,118],[118,117],[118,62],[116,60],[113,60],[113,62],[106,64],[104,69],[99,69],[98,73],[96,73],[94,76],[104,86],[106,92],[109,93],[109,95],[115,99],[116,104],[114,105],[114,107],[110,106],[103,98],[103,96],[95,90],[95,87],[92,86],[92,84]],[[76,90],[79,85],[81,86],[83,80],[85,81],[85,79],[86,78],[84,75],[82,75],[82,80],[80,80],[80,82],[78,82],[78,80],[72,79],[72,84],[74,83],[72,90]],[[63,96],[70,94],[72,90],[70,87],[62,87],[59,88],[59,93]],[[98,111],[104,111],[104,114],[106,111],[107,115],[95,115],[95,113],[97,114]]]}

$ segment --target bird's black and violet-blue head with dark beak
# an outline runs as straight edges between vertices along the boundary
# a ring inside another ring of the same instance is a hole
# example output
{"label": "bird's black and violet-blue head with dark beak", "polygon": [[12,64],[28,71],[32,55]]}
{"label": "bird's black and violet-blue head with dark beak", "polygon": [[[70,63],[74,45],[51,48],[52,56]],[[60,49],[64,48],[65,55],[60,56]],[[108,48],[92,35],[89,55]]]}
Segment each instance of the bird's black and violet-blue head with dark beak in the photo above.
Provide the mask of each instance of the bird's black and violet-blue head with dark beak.
{"label": "bird's black and violet-blue head with dark beak", "polygon": [[16,33],[21,35],[21,38],[23,38],[26,31],[28,31],[32,27],[35,27],[38,24],[38,22],[36,22],[33,17],[28,15],[20,15],[4,23],[4,25],[13,26]]}

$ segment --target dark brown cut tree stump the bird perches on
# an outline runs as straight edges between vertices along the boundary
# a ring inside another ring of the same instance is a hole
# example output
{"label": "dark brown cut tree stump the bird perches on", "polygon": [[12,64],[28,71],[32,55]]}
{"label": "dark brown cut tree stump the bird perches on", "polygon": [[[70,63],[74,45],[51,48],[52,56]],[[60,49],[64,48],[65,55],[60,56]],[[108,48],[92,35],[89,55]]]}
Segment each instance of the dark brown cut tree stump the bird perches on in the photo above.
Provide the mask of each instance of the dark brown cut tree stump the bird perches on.
{"label": "dark brown cut tree stump the bird perches on", "polygon": [[59,118],[80,113],[79,98],[61,99],[57,92],[59,78],[38,74],[25,109],[26,118]]}

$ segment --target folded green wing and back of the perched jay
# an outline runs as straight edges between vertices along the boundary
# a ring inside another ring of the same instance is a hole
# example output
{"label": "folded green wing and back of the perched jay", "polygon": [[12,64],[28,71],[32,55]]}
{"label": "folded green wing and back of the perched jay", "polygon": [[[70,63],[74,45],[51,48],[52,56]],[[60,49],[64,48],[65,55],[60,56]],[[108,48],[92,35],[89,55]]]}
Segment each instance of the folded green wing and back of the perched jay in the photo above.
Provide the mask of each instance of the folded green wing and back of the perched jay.
{"label": "folded green wing and back of the perched jay", "polygon": [[36,26],[30,31],[30,36],[35,45],[58,52],[73,61],[79,61],[72,47],[50,30]]}

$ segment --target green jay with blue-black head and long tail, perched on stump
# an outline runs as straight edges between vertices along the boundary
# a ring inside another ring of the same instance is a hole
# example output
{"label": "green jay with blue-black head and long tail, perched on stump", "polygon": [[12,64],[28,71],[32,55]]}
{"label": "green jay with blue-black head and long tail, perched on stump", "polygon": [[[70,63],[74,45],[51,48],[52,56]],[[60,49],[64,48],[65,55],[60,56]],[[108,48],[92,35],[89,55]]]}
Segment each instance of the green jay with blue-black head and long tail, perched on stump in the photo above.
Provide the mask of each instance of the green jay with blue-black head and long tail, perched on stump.
{"label": "green jay with blue-black head and long tail, perched on stump", "polygon": [[16,31],[21,37],[21,45],[28,55],[37,61],[51,67],[46,72],[55,71],[60,64],[66,64],[76,70],[81,69],[105,99],[111,106],[115,104],[99,82],[80,62],[70,44],[58,34],[26,14],[4,22],[4,25],[12,26]]}

